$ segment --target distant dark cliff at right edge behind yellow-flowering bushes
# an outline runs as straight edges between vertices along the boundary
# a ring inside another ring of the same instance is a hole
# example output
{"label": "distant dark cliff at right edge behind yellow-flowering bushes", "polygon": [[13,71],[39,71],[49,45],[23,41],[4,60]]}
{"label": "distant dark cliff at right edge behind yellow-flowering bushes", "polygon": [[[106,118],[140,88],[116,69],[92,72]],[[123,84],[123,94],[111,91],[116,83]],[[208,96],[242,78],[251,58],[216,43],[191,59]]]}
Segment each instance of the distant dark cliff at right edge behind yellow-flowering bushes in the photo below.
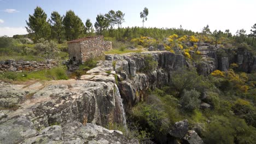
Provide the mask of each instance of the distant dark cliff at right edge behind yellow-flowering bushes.
{"label": "distant dark cliff at right edge behind yellow-flowering bushes", "polygon": [[[217,46],[218,47],[218,46]],[[256,56],[245,49],[220,49],[215,46],[200,46],[202,59],[200,63],[194,64],[197,72],[202,75],[209,75],[214,70],[226,71],[230,64],[236,63],[238,70],[251,73],[256,70]]]}

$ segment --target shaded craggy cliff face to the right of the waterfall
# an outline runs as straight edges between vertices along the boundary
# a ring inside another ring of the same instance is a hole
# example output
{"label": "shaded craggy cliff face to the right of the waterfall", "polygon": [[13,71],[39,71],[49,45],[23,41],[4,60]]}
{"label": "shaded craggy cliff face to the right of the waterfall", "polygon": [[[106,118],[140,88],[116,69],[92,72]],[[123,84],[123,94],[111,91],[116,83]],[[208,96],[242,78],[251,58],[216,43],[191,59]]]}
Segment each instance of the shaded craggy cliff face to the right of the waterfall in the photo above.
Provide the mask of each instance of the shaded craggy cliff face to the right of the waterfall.
{"label": "shaded craggy cliff face to the right of the waterfall", "polygon": [[[148,67],[145,65],[145,55],[152,55],[158,62],[158,67],[141,73]],[[106,56],[115,63],[115,71],[120,81],[118,82],[121,97],[124,100],[126,109],[130,109],[139,100],[143,100],[148,88],[162,87],[170,81],[174,70],[186,65],[183,55],[176,55],[171,52],[143,53],[132,56]]]}

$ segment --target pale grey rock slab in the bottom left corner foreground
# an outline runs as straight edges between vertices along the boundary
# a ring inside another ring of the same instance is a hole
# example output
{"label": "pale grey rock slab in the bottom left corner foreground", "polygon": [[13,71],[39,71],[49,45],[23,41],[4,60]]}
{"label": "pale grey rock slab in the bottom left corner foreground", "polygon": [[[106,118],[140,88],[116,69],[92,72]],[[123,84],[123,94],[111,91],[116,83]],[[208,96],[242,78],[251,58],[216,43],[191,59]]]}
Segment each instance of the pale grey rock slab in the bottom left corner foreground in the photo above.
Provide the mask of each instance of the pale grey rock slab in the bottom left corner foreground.
{"label": "pale grey rock slab in the bottom left corner foreground", "polygon": [[37,133],[33,123],[26,116],[17,116],[0,124],[0,143],[19,143]]}

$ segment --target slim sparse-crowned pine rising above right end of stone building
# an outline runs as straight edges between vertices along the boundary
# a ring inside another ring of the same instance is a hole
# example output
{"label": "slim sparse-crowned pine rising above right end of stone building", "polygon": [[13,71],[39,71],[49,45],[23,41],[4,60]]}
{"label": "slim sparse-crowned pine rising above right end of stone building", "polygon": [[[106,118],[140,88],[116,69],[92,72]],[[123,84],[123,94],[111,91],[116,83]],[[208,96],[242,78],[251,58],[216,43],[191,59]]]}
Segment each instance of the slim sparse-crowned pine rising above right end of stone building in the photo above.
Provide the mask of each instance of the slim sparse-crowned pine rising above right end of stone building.
{"label": "slim sparse-crowned pine rising above right end of stone building", "polygon": [[109,25],[108,21],[105,19],[105,17],[102,14],[97,15],[94,27],[96,28],[96,31],[98,34],[102,35],[102,32],[108,25]]}

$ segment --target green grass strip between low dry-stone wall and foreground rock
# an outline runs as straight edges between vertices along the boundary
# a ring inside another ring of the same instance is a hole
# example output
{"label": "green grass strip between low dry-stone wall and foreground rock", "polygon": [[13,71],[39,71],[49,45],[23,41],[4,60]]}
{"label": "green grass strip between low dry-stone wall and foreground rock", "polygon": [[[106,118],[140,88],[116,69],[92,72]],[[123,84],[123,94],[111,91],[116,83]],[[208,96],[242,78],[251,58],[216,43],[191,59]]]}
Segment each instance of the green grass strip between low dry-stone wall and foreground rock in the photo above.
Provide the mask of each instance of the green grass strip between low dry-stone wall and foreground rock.
{"label": "green grass strip between low dry-stone wall and foreground rock", "polygon": [[55,67],[49,70],[16,73],[4,71],[0,73],[0,80],[3,81],[27,81],[27,80],[67,80],[66,67]]}

